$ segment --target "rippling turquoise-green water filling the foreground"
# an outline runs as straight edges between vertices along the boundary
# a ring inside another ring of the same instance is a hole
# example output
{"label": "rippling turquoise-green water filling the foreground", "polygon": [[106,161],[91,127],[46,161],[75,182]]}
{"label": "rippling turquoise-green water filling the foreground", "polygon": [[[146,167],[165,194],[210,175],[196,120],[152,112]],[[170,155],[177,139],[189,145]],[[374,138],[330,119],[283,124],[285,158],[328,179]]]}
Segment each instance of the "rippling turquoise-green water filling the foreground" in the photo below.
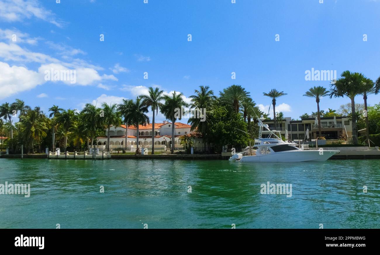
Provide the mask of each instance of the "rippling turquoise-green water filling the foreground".
{"label": "rippling turquoise-green water filling the foreground", "polygon": [[[0,195],[0,228],[380,227],[380,160],[0,158],[5,181],[31,194]],[[268,181],[291,184],[292,196],[261,194]]]}

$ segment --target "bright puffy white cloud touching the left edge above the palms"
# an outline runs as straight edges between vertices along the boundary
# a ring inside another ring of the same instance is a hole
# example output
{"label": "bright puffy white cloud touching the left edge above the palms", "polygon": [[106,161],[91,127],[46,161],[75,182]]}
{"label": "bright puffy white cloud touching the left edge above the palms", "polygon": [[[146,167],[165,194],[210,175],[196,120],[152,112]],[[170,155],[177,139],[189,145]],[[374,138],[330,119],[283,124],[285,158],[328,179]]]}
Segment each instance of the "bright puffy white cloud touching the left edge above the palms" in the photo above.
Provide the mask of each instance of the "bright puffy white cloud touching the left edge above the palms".
{"label": "bright puffy white cloud touching the left edge above the palms", "polygon": [[33,89],[43,83],[45,80],[38,72],[0,62],[0,99]]}

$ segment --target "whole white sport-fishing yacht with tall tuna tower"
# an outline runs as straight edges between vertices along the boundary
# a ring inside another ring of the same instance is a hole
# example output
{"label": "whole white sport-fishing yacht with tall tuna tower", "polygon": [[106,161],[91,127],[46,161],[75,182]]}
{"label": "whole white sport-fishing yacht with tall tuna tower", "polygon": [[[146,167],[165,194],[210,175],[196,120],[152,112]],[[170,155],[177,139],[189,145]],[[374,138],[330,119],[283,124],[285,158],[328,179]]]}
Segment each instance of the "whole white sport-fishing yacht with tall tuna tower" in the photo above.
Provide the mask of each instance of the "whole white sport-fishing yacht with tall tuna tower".
{"label": "whole white sport-fishing yacht with tall tuna tower", "polygon": [[[281,138],[280,131],[270,130],[267,124],[263,124],[263,116],[258,119],[259,138],[255,139],[254,147],[257,150],[249,156],[235,153],[230,161],[238,162],[303,162],[326,161],[339,150],[303,150],[297,148],[295,143],[285,142]],[[263,135],[265,138],[263,138]]]}

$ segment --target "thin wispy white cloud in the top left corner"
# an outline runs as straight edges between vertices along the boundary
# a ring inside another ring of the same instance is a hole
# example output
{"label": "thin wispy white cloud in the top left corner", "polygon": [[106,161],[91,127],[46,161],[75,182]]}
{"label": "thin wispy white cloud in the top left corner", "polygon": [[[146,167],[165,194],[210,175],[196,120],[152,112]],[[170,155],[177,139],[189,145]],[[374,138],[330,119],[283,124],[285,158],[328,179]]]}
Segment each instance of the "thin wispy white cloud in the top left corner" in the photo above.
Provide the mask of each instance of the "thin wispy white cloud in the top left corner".
{"label": "thin wispy white cloud in the top left corner", "polygon": [[55,14],[43,8],[38,0],[2,0],[0,2],[0,19],[7,22],[22,21],[35,17],[63,27],[64,22],[57,20]]}

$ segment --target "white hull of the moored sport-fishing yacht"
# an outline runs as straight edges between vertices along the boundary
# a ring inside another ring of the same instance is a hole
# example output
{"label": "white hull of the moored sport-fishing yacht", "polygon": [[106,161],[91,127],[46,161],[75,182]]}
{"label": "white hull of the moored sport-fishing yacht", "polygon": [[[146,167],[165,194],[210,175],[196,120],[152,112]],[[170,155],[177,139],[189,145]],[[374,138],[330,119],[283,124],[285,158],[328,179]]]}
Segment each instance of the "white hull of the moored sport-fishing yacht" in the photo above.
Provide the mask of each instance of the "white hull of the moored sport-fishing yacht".
{"label": "white hull of the moored sport-fishing yacht", "polygon": [[326,161],[339,150],[296,150],[260,156],[243,156],[239,162],[308,162]]}

